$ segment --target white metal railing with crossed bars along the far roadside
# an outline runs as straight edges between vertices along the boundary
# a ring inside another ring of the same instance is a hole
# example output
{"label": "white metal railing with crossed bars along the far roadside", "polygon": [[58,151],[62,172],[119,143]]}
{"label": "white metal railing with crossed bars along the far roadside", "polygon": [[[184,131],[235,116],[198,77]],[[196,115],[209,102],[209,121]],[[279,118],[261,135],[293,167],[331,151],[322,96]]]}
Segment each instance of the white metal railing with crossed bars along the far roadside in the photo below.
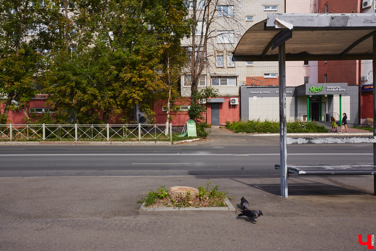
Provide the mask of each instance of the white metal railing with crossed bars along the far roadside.
{"label": "white metal railing with crossed bars along the far roadside", "polygon": [[172,124],[0,125],[0,140],[163,140],[172,141]]}

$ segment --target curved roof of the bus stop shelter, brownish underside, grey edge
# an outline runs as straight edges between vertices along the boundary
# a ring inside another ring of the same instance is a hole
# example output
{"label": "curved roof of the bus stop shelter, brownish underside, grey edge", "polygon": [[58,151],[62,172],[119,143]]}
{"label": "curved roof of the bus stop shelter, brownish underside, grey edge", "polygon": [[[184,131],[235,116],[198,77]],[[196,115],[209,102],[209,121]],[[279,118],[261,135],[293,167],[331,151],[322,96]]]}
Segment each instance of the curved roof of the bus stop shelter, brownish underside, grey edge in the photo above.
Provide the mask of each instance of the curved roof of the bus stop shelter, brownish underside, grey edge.
{"label": "curved roof of the bus stop shelter, brownish underside, grey edge", "polygon": [[372,59],[376,14],[269,14],[244,33],[233,60],[278,61],[271,41],[286,30],[287,61]]}

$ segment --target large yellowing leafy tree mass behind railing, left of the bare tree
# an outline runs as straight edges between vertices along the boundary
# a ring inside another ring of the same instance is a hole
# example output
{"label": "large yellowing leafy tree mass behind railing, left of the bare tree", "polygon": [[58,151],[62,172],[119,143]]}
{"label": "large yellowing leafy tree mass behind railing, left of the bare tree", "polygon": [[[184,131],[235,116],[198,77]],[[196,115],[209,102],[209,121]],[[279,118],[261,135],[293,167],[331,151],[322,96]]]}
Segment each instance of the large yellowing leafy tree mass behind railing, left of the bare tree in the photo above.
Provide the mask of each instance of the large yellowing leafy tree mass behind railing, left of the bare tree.
{"label": "large yellowing leafy tree mass behind railing, left of the bare tree", "polygon": [[[161,58],[169,43],[179,40],[171,33],[182,29],[173,18],[169,21],[170,14],[183,12],[182,3],[77,2],[76,15],[66,15],[62,22],[65,39],[53,49],[45,75],[45,90],[53,94],[48,102],[55,114],[79,123],[108,123],[110,114],[127,121],[134,105],[139,105],[152,118],[153,102],[164,88],[158,81]],[[74,50],[67,50],[70,47]],[[100,110],[102,120],[98,119]]]}

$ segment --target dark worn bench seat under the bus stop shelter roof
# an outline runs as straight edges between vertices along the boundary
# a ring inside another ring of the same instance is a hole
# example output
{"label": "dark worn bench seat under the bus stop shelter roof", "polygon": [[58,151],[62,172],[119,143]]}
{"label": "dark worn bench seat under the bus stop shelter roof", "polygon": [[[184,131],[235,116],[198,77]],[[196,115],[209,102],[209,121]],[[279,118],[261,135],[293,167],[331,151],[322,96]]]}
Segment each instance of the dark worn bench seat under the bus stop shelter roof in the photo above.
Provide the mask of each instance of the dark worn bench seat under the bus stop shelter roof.
{"label": "dark worn bench seat under the bus stop shelter roof", "polygon": [[[280,169],[280,164],[276,164],[274,167]],[[297,175],[376,175],[376,166],[367,164],[288,166],[287,173]],[[375,180],[374,195],[376,195]]]}

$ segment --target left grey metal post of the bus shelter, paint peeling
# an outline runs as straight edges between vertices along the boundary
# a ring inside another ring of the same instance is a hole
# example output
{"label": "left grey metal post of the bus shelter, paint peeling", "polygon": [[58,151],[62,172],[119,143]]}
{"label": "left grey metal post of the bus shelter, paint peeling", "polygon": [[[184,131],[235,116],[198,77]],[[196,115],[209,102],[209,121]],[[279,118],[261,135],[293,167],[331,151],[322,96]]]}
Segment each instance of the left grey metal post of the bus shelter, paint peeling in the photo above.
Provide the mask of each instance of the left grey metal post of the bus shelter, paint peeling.
{"label": "left grey metal post of the bus shelter, paint peeling", "polygon": [[287,198],[287,129],[286,129],[286,58],[285,43],[278,46],[279,65],[279,146],[281,171],[281,196]]}

